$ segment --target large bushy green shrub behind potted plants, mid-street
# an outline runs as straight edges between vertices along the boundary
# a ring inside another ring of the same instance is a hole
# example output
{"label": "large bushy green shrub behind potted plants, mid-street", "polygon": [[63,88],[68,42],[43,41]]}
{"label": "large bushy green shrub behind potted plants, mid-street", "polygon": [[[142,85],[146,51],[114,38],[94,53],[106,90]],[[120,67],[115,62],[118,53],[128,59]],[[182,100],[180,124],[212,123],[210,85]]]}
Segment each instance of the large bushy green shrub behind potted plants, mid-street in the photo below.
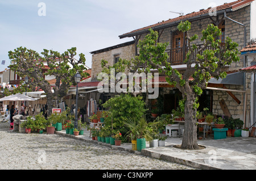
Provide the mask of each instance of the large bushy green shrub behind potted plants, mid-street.
{"label": "large bushy green shrub behind potted plants, mid-street", "polygon": [[134,119],[138,120],[146,113],[142,96],[134,97],[129,94],[116,95],[104,103],[103,107],[109,108],[110,113],[108,119],[104,120],[105,124],[112,125],[113,129],[119,130],[122,134],[127,132],[123,123],[127,117],[133,116]]}

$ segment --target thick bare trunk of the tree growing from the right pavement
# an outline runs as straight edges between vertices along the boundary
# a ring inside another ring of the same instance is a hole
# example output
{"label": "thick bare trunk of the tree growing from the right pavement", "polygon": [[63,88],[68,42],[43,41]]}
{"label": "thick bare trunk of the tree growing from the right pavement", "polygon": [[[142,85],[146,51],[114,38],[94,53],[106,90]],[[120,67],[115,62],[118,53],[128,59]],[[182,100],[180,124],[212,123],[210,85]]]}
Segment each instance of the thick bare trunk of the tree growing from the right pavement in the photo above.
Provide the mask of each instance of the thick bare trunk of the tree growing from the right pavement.
{"label": "thick bare trunk of the tree growing from the right pavement", "polygon": [[184,135],[181,144],[182,149],[196,150],[199,149],[197,144],[197,125],[196,125],[196,110],[193,109],[193,103],[195,102],[195,94],[193,92],[187,92],[187,98],[185,100],[184,114],[185,125]]}

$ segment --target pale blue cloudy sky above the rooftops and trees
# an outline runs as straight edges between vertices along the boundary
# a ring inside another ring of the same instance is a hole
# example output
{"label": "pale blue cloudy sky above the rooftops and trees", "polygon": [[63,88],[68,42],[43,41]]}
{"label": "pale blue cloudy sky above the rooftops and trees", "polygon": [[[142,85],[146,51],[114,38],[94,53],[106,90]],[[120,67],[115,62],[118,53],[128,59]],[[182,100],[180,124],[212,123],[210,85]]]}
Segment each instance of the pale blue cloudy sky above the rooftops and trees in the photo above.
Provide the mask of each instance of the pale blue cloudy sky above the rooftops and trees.
{"label": "pale blue cloudy sky above the rooftops and trees", "polygon": [[119,35],[180,15],[174,12],[185,15],[233,1],[0,0],[0,71],[10,65],[8,52],[18,47],[38,53],[76,47],[91,68],[90,52],[133,40]]}

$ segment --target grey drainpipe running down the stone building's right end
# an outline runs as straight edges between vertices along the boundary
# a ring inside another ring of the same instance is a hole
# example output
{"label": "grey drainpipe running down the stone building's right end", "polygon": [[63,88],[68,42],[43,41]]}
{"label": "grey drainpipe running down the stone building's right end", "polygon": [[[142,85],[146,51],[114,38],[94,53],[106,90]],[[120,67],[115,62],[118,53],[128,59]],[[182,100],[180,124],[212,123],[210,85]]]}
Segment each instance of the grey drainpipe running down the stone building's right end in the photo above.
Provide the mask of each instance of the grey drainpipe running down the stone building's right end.
{"label": "grey drainpipe running down the stone building's right end", "polygon": [[[240,24],[241,26],[243,26],[243,47],[246,47],[246,26],[245,26],[245,24],[237,22],[237,21],[229,18],[228,16],[226,16],[226,11],[224,11],[224,18],[229,19],[232,22]],[[243,67],[246,67],[246,56],[243,57]],[[245,75],[246,75],[246,73],[244,72],[243,73],[243,91],[246,90],[246,88],[245,88],[245,86],[246,86],[246,77],[245,77]],[[244,99],[243,102],[246,104],[246,99],[247,99],[246,92],[243,94],[243,99]],[[244,107],[246,107],[246,105],[244,105]],[[245,123],[246,122],[246,120],[245,120],[246,119],[246,111],[243,114],[244,114],[243,115],[243,119],[244,119],[243,121]]]}

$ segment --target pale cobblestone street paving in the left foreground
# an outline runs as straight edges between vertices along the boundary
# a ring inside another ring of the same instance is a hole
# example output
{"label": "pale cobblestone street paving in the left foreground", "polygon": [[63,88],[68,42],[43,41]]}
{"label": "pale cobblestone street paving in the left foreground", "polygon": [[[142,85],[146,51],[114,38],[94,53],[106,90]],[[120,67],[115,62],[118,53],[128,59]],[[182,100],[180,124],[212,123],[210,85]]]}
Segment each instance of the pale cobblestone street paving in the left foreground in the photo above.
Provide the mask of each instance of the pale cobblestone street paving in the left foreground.
{"label": "pale cobblestone street paving in the left foreground", "polygon": [[10,132],[0,123],[1,170],[191,170],[155,158],[56,134]]}

